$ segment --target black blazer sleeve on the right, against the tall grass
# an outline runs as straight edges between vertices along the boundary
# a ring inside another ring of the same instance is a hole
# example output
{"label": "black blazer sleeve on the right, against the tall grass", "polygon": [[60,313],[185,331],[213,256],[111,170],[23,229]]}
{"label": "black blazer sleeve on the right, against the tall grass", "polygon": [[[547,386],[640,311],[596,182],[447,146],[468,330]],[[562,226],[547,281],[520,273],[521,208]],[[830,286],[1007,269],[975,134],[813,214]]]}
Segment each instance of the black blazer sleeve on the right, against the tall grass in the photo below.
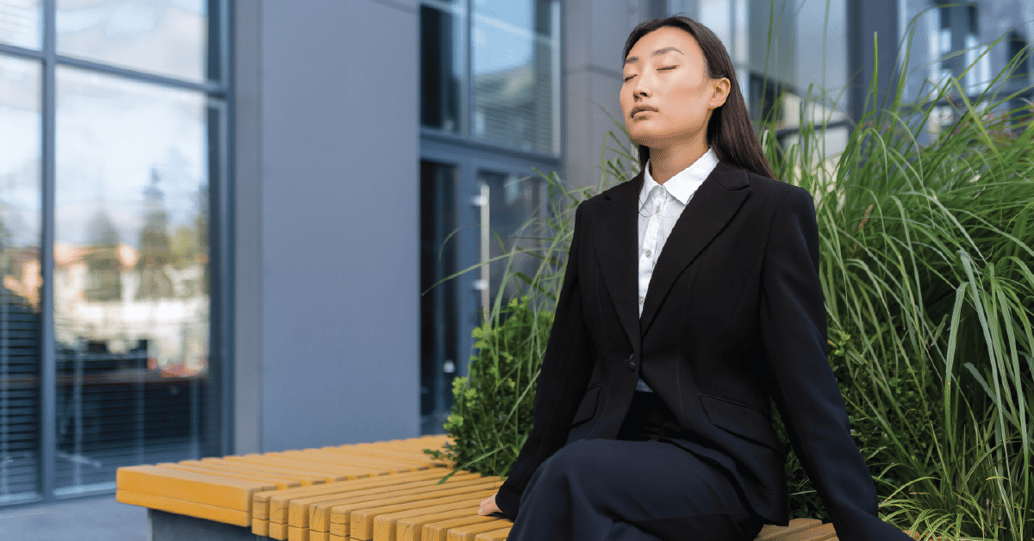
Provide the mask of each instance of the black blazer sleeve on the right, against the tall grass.
{"label": "black blazer sleeve on the right, against the tall grass", "polygon": [[791,186],[768,232],[759,327],[777,408],[842,541],[911,539],[877,515],[876,488],[851,439],[826,357],[819,236],[811,194]]}

